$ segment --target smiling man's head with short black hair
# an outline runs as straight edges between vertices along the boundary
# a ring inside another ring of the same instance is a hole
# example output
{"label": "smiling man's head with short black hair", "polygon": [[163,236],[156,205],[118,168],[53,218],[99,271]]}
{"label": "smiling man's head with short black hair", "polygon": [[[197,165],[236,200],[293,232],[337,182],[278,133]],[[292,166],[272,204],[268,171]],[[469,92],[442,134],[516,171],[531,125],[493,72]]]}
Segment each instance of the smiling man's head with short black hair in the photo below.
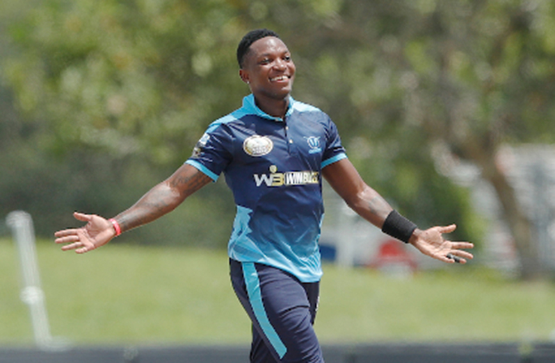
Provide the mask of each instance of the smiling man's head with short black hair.
{"label": "smiling man's head with short black hair", "polygon": [[281,100],[293,88],[295,64],[282,40],[263,37],[250,45],[239,74],[255,97]]}

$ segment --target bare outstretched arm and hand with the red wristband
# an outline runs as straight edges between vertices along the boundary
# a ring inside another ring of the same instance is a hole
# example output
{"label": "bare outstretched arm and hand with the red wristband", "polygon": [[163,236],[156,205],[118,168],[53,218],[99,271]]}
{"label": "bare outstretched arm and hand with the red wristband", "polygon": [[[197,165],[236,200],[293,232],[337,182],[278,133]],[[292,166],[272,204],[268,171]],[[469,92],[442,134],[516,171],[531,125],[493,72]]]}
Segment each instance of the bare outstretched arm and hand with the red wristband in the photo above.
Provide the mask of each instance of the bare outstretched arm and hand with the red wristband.
{"label": "bare outstretched arm and hand with the red wristband", "polygon": [[[131,208],[121,212],[113,219],[121,232],[149,223],[171,212],[188,196],[211,182],[211,178],[191,165],[184,164],[170,178],[154,186]],[[86,253],[103,246],[115,237],[113,223],[95,214],[74,213],[74,217],[87,224],[81,228],[59,230],[57,244],[65,244],[63,251],[75,250]]]}

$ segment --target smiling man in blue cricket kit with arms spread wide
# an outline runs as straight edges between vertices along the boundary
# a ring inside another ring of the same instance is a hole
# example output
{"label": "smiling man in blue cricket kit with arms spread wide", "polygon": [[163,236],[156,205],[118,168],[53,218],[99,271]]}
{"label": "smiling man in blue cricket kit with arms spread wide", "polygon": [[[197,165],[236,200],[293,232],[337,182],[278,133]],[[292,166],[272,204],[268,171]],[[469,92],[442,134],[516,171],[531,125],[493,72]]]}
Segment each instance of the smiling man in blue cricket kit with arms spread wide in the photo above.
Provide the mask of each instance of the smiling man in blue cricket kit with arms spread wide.
{"label": "smiling man in blue cricket kit with arms spread wide", "polygon": [[88,222],[56,233],[64,251],[86,253],[161,217],[225,174],[237,207],[228,245],[236,295],[252,321],[251,362],[323,362],[312,324],[322,276],[318,239],[321,176],[364,219],[448,263],[465,263],[467,242],[442,237],[456,226],[419,230],[366,185],[346,157],[335,124],[291,98],[296,68],[273,31],[243,37],[239,75],[252,94],[214,121],[193,155],[167,180],[113,219],[75,213]]}

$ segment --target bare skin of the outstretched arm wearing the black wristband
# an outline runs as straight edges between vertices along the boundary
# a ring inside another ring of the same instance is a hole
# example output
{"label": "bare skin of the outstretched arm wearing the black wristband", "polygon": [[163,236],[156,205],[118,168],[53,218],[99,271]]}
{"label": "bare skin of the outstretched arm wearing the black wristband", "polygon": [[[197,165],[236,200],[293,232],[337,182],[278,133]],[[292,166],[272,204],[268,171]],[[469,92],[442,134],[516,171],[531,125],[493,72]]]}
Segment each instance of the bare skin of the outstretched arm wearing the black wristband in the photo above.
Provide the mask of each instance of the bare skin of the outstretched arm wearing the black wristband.
{"label": "bare skin of the outstretched arm wearing the black wristband", "polygon": [[[322,174],[349,207],[374,226],[383,228],[393,208],[376,190],[364,183],[351,161],[343,159],[334,162],[325,167]],[[410,235],[408,243],[421,253],[437,260],[466,263],[466,259],[472,259],[473,256],[467,251],[462,251],[461,248],[473,248],[474,245],[469,242],[451,242],[443,237],[444,233],[451,233],[455,229],[454,224],[447,227],[436,226],[427,230],[417,228]]]}

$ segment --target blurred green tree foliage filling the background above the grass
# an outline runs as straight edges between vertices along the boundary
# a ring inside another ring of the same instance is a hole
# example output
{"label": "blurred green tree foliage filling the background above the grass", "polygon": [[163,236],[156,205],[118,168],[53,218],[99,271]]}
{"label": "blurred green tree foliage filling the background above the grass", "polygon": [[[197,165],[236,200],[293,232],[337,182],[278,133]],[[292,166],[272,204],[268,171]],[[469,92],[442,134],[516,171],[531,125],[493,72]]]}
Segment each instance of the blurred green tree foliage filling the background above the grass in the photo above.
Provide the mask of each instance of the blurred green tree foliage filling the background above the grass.
{"label": "blurred green tree foliage filling the background above the grass", "polygon": [[[0,176],[0,209],[28,210],[40,233],[74,223],[72,210],[115,214],[179,167],[248,94],[235,49],[252,28],[280,33],[297,65],[293,96],[330,114],[363,178],[421,226],[456,222],[456,237],[475,241],[484,227],[467,190],[437,171],[437,146],[475,160],[501,143],[554,140],[547,0],[27,0],[0,10],[14,15],[0,21],[0,167],[13,171]],[[223,245],[234,212],[223,183],[185,204],[131,237]]]}

